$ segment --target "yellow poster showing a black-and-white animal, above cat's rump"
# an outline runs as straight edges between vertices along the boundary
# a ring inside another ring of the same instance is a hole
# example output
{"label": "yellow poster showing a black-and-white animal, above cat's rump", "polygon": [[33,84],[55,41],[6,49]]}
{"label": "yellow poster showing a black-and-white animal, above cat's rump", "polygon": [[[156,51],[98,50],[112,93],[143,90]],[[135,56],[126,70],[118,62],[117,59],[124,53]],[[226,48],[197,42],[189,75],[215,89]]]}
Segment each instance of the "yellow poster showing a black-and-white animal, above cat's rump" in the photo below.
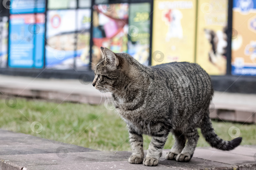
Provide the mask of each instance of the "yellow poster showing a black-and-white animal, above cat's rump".
{"label": "yellow poster showing a black-and-white animal, above cat's rump", "polygon": [[198,1],[196,62],[210,75],[227,70],[228,0]]}

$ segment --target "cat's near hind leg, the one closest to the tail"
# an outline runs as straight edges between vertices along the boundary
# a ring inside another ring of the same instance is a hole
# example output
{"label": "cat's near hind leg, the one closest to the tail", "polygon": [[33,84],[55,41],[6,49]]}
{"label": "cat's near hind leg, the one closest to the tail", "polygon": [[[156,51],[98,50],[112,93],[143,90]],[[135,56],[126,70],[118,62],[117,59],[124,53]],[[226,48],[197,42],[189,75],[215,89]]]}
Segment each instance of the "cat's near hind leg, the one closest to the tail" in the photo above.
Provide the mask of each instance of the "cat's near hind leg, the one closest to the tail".
{"label": "cat's near hind leg, the one closest to the tail", "polygon": [[176,161],[188,162],[193,156],[194,150],[197,146],[199,139],[197,128],[190,128],[184,133],[187,138],[186,146],[183,148],[180,154],[177,155]]}

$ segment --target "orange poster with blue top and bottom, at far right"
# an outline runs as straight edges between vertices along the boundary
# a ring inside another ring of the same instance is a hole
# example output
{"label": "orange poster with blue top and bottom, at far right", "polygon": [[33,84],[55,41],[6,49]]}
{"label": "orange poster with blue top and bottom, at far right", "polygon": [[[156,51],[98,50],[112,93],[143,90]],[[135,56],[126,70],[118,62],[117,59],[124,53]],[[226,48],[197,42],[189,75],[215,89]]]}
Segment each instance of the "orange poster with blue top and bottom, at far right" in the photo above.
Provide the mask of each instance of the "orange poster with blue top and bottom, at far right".
{"label": "orange poster with blue top and bottom, at far right", "polygon": [[256,0],[233,1],[233,75],[256,76]]}

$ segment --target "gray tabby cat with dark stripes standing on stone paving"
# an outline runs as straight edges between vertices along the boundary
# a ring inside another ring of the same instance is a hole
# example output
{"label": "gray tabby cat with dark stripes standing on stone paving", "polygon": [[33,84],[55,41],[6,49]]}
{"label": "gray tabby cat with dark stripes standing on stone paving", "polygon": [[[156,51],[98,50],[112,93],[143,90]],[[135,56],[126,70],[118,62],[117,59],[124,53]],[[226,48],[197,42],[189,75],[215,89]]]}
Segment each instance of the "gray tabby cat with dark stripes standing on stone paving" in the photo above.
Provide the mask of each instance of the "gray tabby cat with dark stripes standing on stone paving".
{"label": "gray tabby cat with dark stripes standing on stone paving", "polygon": [[[129,54],[115,54],[103,47],[101,55],[93,86],[112,92],[116,110],[129,129],[130,163],[156,166],[170,132],[175,143],[167,159],[180,162],[192,158],[199,138],[197,128],[214,148],[232,150],[241,143],[241,137],[225,141],[214,132],[209,117],[213,88],[209,75],[198,64],[173,62],[147,67]],[[142,134],[152,136],[146,158]]]}

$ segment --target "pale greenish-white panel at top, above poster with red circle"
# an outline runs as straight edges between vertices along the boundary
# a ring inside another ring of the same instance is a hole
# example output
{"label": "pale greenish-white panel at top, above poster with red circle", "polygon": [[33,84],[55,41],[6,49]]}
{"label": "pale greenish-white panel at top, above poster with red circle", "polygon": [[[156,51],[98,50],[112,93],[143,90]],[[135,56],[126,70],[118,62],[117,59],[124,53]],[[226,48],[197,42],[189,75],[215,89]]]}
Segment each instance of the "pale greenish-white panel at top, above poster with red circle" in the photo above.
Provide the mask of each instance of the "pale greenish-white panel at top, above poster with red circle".
{"label": "pale greenish-white panel at top, above poster with red circle", "polygon": [[68,9],[76,8],[76,0],[48,0],[47,4],[48,9]]}

